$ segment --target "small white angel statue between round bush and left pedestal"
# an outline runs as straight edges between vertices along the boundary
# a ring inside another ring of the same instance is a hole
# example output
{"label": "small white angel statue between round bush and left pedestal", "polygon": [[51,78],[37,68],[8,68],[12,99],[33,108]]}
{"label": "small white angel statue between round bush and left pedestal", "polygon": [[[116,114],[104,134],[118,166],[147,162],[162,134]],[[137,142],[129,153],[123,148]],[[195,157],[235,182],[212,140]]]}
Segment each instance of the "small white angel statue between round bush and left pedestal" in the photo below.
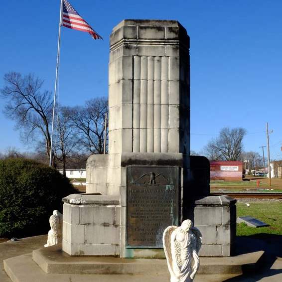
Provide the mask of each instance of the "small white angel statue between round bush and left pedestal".
{"label": "small white angel statue between round bush and left pedestal", "polygon": [[44,247],[57,245],[61,242],[63,215],[59,211],[54,210],[53,214],[50,216],[49,223],[51,229],[48,232],[47,244],[45,244]]}

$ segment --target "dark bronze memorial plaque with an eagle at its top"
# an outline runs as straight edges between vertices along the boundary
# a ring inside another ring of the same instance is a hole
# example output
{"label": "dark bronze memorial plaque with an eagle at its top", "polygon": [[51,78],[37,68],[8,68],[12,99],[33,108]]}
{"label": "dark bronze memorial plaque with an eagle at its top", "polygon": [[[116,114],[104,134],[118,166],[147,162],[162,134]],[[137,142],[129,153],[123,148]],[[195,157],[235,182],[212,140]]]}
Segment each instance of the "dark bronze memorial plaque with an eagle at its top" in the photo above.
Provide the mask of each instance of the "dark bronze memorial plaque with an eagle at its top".
{"label": "dark bronze memorial plaque with an eagle at its top", "polygon": [[127,248],[162,248],[162,233],[179,224],[179,167],[127,167]]}

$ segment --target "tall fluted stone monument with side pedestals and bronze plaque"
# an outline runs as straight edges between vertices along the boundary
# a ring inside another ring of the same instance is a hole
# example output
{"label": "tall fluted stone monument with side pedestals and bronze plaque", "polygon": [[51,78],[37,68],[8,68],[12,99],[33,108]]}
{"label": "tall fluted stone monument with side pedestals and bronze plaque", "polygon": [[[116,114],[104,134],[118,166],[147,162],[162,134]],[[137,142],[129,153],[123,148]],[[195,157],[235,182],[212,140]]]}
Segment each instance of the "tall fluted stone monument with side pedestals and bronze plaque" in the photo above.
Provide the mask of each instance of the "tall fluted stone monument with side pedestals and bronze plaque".
{"label": "tall fluted stone monument with side pedestals and bronze plaque", "polygon": [[164,258],[165,228],[191,219],[200,255],[229,256],[234,201],[208,196],[209,162],[189,153],[189,36],[174,20],[123,20],[110,40],[109,154],[88,158],[86,194],[64,198],[63,251]]}

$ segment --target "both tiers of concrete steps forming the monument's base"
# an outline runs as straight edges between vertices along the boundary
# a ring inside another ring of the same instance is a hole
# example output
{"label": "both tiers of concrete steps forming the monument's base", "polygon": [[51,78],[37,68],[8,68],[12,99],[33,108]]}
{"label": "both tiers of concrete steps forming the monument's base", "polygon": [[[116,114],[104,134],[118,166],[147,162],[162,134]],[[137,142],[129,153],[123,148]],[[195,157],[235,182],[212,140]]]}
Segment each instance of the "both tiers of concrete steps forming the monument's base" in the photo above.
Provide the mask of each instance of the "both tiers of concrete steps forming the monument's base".
{"label": "both tiers of concrete steps forming the monument's base", "polygon": [[[263,251],[232,258],[200,258],[195,282],[221,282],[242,273],[253,272]],[[33,251],[32,254],[4,261],[12,282],[90,282],[90,281],[168,281],[165,259],[120,259],[115,257],[76,257],[60,246]]]}

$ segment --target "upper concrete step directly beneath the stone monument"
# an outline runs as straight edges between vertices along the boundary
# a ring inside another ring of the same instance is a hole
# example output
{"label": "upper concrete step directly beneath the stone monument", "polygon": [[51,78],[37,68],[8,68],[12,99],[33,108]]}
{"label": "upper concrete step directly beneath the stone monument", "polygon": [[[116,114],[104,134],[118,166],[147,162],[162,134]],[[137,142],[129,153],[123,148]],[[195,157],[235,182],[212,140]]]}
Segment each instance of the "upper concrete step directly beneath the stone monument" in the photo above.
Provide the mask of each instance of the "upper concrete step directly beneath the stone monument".
{"label": "upper concrete step directly beneath the stone monument", "polygon": [[[74,257],[60,246],[34,250],[33,260],[47,274],[163,274],[165,259],[120,259],[116,257]],[[254,271],[264,254],[258,251],[235,257],[200,257],[198,274],[242,274]]]}

